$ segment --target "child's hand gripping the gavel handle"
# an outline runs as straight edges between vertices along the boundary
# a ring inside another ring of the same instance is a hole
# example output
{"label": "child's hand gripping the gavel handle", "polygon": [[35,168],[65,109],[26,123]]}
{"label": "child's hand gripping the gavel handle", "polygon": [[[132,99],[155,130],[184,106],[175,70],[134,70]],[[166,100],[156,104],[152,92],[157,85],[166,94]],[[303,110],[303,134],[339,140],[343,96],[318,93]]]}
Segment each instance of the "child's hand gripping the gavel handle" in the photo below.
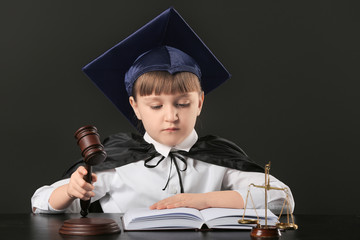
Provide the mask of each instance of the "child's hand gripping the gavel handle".
{"label": "child's hand gripping the gavel handle", "polygon": [[[80,198],[81,200],[89,200],[95,196],[93,192],[94,186],[84,180],[84,176],[87,174],[86,169],[80,166],[70,178],[70,182],[67,187],[67,195],[70,198]],[[96,182],[96,174],[92,174],[92,182]]]}

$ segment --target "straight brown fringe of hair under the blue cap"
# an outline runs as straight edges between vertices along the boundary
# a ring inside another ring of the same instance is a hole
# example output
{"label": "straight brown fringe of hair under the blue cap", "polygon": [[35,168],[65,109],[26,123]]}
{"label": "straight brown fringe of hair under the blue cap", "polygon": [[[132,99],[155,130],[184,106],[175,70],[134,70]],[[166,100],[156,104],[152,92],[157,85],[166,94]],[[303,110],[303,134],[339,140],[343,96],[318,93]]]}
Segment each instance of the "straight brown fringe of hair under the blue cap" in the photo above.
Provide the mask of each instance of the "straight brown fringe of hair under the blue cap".
{"label": "straight brown fringe of hair under the blue cap", "polygon": [[178,72],[171,74],[167,71],[153,71],[141,75],[134,83],[132,95],[148,96],[151,94],[160,95],[201,92],[199,78],[190,72]]}

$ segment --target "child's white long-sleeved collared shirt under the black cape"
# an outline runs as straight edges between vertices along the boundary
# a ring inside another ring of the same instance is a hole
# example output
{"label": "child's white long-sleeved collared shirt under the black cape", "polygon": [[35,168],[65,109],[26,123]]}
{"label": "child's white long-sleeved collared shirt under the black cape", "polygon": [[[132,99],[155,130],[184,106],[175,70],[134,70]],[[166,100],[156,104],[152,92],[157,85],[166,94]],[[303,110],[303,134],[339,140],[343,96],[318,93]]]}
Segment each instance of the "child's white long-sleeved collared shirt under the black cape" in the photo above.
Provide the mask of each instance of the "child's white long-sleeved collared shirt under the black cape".
{"label": "child's white long-sleeved collared shirt under the black cape", "polygon": [[[171,167],[170,180],[166,189],[162,190],[169,177],[170,161],[169,152],[172,150],[189,151],[196,143],[198,136],[193,132],[179,145],[169,147],[156,142],[147,133],[145,141],[152,143],[158,153],[165,157],[154,168],[144,166],[144,161],[127,164],[115,169],[96,172],[97,182],[94,183],[95,197],[91,201],[100,199],[100,204],[105,213],[123,213],[130,208],[149,207],[152,204],[180,193],[179,178],[175,166]],[[156,165],[161,156],[148,162]],[[184,163],[177,161],[179,169],[184,169]],[[264,185],[264,173],[245,172],[226,167],[221,167],[196,159],[187,158],[187,169],[180,171],[185,193],[206,193],[221,190],[235,190],[240,193],[244,202],[250,184]],[[75,200],[67,209],[56,210],[49,204],[51,193],[59,186],[69,183],[69,179],[60,180],[50,186],[43,186],[36,190],[31,198],[32,209],[35,213],[61,213],[80,212],[80,201]],[[294,199],[290,189],[282,182],[270,176],[272,187],[288,189],[291,210],[294,209]],[[250,188],[255,208],[265,208],[265,194],[262,188]],[[286,194],[284,191],[268,191],[268,207],[277,213],[282,208]],[[248,208],[253,208],[250,197]]]}

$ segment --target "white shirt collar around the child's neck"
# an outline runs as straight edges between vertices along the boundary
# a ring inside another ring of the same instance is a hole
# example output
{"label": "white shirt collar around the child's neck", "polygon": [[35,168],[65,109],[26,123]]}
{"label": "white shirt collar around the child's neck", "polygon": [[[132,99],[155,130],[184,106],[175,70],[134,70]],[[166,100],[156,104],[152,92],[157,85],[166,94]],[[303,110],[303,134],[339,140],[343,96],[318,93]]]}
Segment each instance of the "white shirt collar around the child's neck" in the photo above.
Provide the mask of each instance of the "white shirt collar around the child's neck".
{"label": "white shirt collar around the child's neck", "polygon": [[169,155],[169,152],[172,150],[182,150],[189,152],[191,147],[196,143],[198,140],[198,135],[195,131],[195,129],[192,130],[192,132],[185,138],[184,141],[179,143],[178,145],[175,145],[174,147],[166,146],[164,144],[161,144],[157,141],[155,141],[150,135],[146,132],[144,135],[144,140],[148,143],[151,143],[154,145],[156,151],[163,155],[164,157],[167,157]]}

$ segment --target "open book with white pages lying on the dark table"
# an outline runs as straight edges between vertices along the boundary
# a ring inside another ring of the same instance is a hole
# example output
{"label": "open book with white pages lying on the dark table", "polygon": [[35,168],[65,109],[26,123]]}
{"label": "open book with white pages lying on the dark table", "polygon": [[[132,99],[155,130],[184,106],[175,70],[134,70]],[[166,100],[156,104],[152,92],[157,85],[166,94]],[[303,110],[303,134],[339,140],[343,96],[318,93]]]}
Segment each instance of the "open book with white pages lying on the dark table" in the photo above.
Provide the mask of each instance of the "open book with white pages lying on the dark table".
{"label": "open book with white pages lying on the dark table", "polygon": [[[149,210],[132,209],[123,216],[125,231],[136,230],[174,230],[174,229],[251,229],[254,224],[239,224],[244,209],[207,208],[174,208]],[[256,214],[257,213],[257,214]],[[265,209],[246,209],[245,219],[257,219],[265,224]],[[268,225],[275,225],[278,218],[268,210]]]}

